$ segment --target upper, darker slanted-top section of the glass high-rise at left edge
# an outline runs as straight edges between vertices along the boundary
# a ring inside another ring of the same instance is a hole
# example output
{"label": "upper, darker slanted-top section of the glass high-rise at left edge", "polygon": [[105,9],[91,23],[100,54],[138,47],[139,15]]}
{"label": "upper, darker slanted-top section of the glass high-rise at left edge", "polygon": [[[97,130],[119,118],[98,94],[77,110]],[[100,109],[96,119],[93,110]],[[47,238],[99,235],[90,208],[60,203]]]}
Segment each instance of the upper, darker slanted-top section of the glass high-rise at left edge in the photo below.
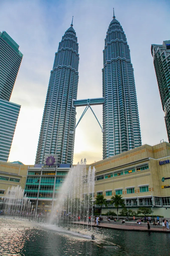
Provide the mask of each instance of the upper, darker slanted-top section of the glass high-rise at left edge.
{"label": "upper, darker slanted-top section of the glass high-rise at left edge", "polygon": [[0,32],[0,99],[9,101],[23,54],[19,45],[5,32]]}

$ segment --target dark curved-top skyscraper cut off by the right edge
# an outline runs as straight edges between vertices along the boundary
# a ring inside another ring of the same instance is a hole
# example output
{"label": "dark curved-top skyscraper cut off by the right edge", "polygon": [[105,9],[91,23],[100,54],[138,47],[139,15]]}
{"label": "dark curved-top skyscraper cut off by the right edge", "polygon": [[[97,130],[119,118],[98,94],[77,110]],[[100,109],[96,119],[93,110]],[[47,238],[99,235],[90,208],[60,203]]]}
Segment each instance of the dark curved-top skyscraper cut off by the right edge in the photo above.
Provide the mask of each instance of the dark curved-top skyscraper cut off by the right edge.
{"label": "dark curved-top skyscraper cut off by the right edge", "polygon": [[151,54],[170,142],[170,40],[163,41],[162,45],[151,45]]}

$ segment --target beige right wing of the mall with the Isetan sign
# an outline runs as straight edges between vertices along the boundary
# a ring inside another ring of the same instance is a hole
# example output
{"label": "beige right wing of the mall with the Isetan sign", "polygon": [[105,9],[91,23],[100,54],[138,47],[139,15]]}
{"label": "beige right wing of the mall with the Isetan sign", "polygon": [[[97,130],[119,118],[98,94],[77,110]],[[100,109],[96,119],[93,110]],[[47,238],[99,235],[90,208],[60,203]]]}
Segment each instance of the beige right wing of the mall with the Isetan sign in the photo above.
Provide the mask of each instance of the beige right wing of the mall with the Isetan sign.
{"label": "beige right wing of the mall with the Isetan sign", "polygon": [[[102,193],[109,203],[111,196],[121,194],[126,207],[133,210],[154,207],[154,214],[169,215],[170,209],[165,211],[170,207],[169,161],[170,144],[163,142],[154,146],[145,144],[93,163],[91,168],[96,169],[94,198]],[[160,209],[162,207],[164,209]],[[106,211],[108,209],[103,209],[103,213]]]}

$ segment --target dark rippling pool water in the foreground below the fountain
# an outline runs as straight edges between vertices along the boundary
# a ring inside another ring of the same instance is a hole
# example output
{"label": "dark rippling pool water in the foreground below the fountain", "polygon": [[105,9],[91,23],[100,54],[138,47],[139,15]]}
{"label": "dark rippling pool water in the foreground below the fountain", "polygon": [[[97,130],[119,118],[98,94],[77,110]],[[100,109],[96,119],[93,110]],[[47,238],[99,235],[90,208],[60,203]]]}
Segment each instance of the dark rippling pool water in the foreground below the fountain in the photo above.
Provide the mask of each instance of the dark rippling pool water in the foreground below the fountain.
{"label": "dark rippling pool water in the foreground below the fountain", "polygon": [[91,228],[89,231],[83,226],[76,228],[68,231],[52,225],[0,218],[0,255],[170,255],[170,232],[147,233],[94,227],[95,240],[92,241]]}

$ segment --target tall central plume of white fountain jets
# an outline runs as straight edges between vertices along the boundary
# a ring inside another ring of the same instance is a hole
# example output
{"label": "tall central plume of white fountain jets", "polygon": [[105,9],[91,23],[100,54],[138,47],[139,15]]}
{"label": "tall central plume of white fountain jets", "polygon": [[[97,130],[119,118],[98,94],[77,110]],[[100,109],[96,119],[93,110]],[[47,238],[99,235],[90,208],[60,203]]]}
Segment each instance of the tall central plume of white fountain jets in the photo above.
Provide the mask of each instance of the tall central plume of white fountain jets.
{"label": "tall central plume of white fountain jets", "polygon": [[[95,168],[88,169],[86,172],[86,160],[81,160],[76,166],[73,166],[60,191],[53,212],[51,213],[51,223],[57,223],[68,230],[73,229],[76,223],[76,229],[80,232],[80,221],[84,223],[88,216],[93,218],[93,196],[95,185]],[[88,229],[87,222],[87,229]],[[90,223],[92,229],[92,221]]]}

